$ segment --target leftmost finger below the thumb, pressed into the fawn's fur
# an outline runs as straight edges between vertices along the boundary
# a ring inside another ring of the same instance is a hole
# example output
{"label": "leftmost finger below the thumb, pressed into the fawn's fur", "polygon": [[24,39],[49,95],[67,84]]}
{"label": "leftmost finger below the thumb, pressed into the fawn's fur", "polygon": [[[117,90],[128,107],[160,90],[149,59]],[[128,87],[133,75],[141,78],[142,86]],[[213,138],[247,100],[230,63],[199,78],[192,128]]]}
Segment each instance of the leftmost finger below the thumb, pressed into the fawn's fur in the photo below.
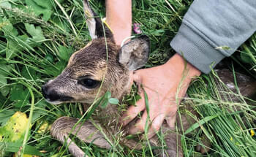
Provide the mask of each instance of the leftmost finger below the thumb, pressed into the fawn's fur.
{"label": "leftmost finger below the thumb, pressed into the fawn's fur", "polygon": [[130,106],[124,115],[121,117],[122,126],[126,126],[127,123],[132,121],[141,111],[145,109],[144,96],[141,95],[141,99],[136,102],[135,106]]}

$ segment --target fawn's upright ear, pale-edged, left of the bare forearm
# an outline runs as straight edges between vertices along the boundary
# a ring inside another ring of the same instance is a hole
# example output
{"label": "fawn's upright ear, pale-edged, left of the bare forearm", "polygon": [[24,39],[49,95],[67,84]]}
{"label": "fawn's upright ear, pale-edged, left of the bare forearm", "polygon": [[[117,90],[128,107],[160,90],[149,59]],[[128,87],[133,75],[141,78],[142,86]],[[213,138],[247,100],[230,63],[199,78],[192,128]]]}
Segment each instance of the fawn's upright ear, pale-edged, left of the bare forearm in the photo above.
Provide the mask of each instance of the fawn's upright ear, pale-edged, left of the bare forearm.
{"label": "fawn's upright ear, pale-edged, left of the bare forearm", "polygon": [[[112,38],[113,34],[105,24],[102,24],[102,20],[97,18],[96,13],[91,9],[89,1],[83,0],[83,12],[86,16],[86,24],[89,28],[91,39],[97,39],[105,36]],[[104,25],[104,26],[103,26]],[[104,30],[103,30],[104,27]]]}

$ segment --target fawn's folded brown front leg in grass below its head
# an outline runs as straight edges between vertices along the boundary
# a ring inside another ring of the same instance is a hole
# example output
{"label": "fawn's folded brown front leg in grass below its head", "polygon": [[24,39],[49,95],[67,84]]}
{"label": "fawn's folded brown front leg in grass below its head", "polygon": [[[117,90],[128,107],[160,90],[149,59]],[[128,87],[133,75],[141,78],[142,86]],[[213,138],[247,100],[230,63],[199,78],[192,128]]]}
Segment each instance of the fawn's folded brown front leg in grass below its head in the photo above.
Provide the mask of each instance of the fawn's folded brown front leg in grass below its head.
{"label": "fawn's folded brown front leg in grass below its head", "polygon": [[94,127],[94,124],[90,121],[86,121],[82,126],[78,123],[75,129],[73,129],[77,122],[78,119],[76,118],[61,117],[54,121],[53,126],[50,129],[50,134],[63,144],[68,145],[69,152],[75,157],[83,157],[85,156],[85,153],[75,145],[75,142],[72,142],[69,138],[69,134],[75,135],[83,142],[93,142],[94,145],[97,145],[100,148],[111,148],[111,145],[105,140],[104,136]]}

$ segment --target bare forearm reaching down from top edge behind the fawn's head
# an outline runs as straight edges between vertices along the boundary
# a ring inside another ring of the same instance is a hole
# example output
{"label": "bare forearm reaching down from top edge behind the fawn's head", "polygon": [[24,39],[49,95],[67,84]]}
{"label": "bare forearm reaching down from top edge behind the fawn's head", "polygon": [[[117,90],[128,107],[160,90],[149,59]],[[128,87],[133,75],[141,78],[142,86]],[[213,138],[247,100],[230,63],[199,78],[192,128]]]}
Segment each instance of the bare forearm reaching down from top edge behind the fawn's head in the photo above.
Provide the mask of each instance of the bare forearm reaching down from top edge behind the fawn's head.
{"label": "bare forearm reaching down from top edge behind the fawn's head", "polygon": [[132,1],[107,0],[106,22],[113,31],[117,45],[121,45],[124,38],[129,37],[132,31]]}

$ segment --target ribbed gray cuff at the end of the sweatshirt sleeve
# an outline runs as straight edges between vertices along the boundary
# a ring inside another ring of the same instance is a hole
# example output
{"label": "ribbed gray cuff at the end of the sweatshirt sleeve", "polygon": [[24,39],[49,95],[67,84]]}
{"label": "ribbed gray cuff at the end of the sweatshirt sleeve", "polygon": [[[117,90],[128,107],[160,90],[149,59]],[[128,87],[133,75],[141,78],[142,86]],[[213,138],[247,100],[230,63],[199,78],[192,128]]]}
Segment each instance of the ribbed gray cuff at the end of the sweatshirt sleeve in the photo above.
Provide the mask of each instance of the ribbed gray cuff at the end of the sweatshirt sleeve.
{"label": "ribbed gray cuff at the end of the sweatshirt sleeve", "polygon": [[214,68],[219,61],[225,58],[225,55],[184,23],[181,24],[176,37],[170,42],[170,46],[176,50],[176,53],[184,56],[190,64],[205,74],[211,72],[211,68]]}

